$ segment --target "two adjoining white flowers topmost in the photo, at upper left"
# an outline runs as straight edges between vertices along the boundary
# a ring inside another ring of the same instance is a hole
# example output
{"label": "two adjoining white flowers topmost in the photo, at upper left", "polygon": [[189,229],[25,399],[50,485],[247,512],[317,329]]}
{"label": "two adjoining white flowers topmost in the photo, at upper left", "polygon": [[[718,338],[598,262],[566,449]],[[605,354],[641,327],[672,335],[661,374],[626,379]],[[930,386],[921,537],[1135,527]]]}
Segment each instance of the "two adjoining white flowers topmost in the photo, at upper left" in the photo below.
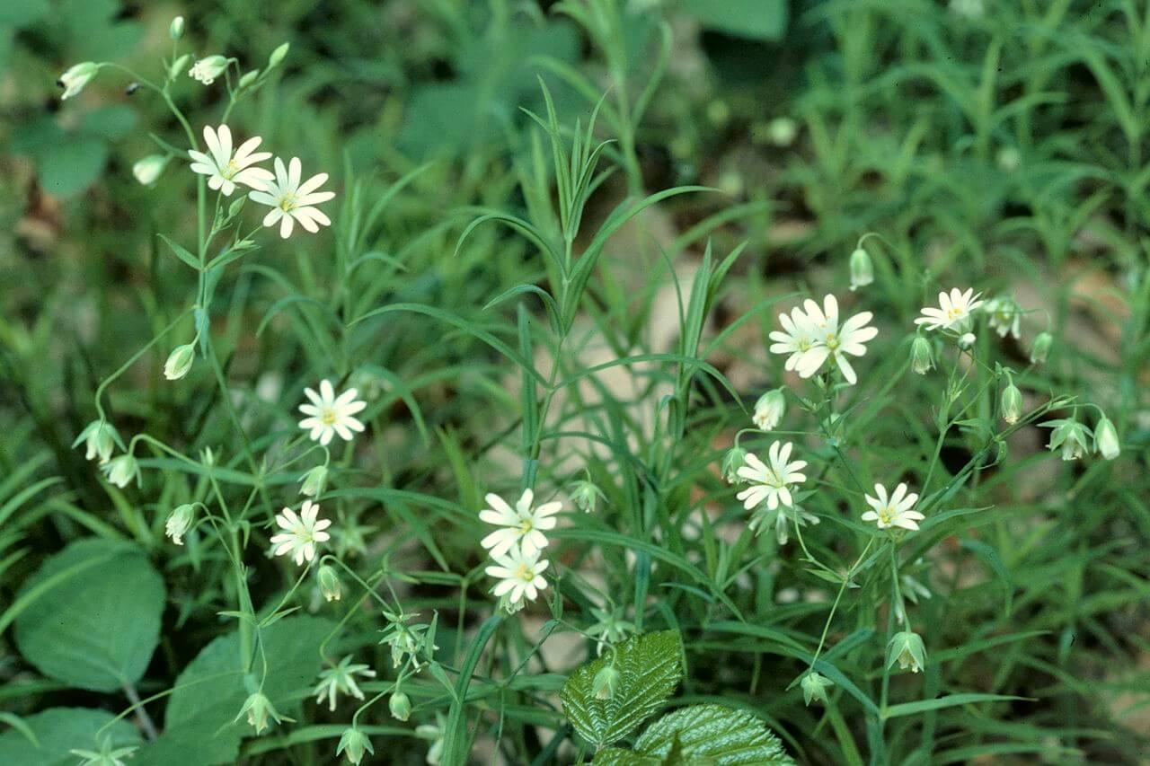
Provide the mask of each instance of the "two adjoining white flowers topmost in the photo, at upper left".
{"label": "two adjoining white flowers topmost in the photo, at upper left", "polygon": [[208,152],[190,150],[191,169],[208,177],[208,186],[224,197],[236,191],[237,184],[252,189],[248,199],[260,205],[267,205],[271,210],[263,216],[264,227],[279,225],[279,236],[286,239],[298,222],[306,230],[315,233],[320,227],[331,225],[331,219],[315,207],[332,199],[336,193],[320,191],[328,181],[328,174],[321,173],[302,181],[302,164],[293,156],[286,166],[283,159],[275,158],[275,175],[258,162],[271,159],[270,152],[256,152],[262,138],[254,136],[232,148],[231,129],[228,125],[204,128],[204,143]]}

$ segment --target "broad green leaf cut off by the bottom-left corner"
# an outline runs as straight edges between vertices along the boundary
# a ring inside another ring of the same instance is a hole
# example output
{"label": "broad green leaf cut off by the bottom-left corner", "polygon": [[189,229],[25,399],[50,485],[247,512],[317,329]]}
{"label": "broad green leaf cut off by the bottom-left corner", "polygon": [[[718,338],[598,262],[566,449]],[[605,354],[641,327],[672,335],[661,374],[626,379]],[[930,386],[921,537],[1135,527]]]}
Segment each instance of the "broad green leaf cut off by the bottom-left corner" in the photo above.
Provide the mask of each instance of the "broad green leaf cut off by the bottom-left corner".
{"label": "broad green leaf cut off by the bottom-left corner", "polygon": [[[23,733],[10,729],[0,734],[0,764],[13,766],[75,766],[79,758],[69,750],[99,750],[95,733],[113,718],[103,710],[87,707],[52,707],[29,715],[24,723],[36,736],[33,744]],[[114,748],[139,744],[136,727],[125,720],[109,726],[100,735],[109,737]]]}

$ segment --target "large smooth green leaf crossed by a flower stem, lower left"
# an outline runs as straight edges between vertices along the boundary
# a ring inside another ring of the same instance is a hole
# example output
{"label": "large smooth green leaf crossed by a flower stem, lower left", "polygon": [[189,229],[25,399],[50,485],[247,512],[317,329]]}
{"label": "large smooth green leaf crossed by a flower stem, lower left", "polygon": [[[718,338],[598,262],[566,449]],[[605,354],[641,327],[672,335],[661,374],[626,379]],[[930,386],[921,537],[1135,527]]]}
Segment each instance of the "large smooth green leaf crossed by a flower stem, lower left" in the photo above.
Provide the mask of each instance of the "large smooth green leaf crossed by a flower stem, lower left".
{"label": "large smooth green leaf crossed by a flower stem, lower left", "polygon": [[[289,616],[260,631],[268,659],[263,694],[281,713],[298,718],[294,700],[314,685],[320,643],[334,627],[319,618]],[[255,667],[259,672],[261,662]],[[247,695],[239,636],[220,636],[176,679],[163,734],[136,753],[132,766],[233,763],[243,737],[254,734],[245,721],[235,721]]]}

